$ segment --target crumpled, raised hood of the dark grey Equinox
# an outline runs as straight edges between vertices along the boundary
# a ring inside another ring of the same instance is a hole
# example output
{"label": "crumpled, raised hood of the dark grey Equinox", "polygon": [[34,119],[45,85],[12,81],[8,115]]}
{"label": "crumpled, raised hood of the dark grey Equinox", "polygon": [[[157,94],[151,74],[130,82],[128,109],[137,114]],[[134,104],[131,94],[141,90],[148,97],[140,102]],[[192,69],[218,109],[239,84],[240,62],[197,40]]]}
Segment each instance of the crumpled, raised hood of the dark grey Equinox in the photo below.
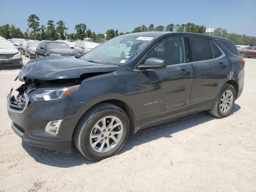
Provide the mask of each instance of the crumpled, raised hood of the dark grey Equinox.
{"label": "crumpled, raised hood of the dark grey Equinox", "polygon": [[50,56],[30,60],[21,68],[18,78],[20,81],[24,81],[24,78],[38,80],[79,78],[86,73],[113,72],[119,67],[87,62],[70,56]]}

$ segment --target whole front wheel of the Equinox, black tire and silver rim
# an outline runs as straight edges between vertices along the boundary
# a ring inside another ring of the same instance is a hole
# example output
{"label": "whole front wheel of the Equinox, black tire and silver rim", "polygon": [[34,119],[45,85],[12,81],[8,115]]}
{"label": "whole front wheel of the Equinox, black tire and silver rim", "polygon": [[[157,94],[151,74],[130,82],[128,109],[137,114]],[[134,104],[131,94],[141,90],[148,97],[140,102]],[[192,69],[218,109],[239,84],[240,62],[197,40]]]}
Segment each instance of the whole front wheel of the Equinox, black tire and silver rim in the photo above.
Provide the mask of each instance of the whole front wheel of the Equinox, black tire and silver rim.
{"label": "whole front wheel of the Equinox, black tire and silver rim", "polygon": [[90,160],[102,160],[116,154],[126,142],[129,120],[125,112],[113,104],[94,106],[78,123],[74,143]]}

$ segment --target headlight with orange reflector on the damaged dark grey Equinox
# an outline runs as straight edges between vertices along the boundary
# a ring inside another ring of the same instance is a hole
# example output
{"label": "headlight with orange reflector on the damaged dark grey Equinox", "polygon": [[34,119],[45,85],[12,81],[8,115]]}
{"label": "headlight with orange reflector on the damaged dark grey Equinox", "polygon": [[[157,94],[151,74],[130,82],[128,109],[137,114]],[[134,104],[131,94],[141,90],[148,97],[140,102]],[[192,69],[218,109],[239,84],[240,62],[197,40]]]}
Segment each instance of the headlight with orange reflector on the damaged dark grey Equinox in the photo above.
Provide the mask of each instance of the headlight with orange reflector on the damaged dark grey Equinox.
{"label": "headlight with orange reflector on the damaged dark grey Equinox", "polygon": [[45,102],[63,98],[74,91],[78,90],[78,86],[64,87],[64,88],[39,88],[28,94],[30,102]]}

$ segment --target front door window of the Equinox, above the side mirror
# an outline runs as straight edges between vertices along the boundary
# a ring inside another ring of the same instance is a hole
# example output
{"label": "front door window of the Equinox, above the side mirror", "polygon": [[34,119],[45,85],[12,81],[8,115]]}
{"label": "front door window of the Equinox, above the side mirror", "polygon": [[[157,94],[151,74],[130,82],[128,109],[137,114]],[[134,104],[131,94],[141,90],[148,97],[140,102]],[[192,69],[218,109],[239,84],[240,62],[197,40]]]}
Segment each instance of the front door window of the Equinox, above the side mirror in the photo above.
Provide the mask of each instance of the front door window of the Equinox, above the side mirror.
{"label": "front door window of the Equinox, above the side mirror", "polygon": [[168,65],[185,63],[185,48],[183,37],[169,38],[155,46],[146,56],[167,60]]}

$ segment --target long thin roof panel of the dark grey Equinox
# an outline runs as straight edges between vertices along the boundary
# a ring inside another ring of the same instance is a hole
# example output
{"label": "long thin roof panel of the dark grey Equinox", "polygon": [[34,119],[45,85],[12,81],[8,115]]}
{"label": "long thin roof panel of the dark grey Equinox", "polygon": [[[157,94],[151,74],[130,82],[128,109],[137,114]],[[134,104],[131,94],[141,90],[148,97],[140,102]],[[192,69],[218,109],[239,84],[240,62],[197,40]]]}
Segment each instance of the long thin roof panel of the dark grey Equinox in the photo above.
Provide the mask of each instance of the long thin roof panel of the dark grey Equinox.
{"label": "long thin roof panel of the dark grey Equinox", "polygon": [[166,32],[166,31],[156,31],[156,32],[139,32],[139,33],[130,33],[125,34],[124,36],[144,36],[144,37],[161,37],[161,36],[173,36],[173,35],[186,35],[186,36],[200,36],[200,37],[206,37],[206,38],[215,38],[215,39],[221,39],[226,41],[231,41],[226,38],[212,36],[212,35],[206,35],[206,34],[199,34],[199,33],[188,33],[188,32]]}

